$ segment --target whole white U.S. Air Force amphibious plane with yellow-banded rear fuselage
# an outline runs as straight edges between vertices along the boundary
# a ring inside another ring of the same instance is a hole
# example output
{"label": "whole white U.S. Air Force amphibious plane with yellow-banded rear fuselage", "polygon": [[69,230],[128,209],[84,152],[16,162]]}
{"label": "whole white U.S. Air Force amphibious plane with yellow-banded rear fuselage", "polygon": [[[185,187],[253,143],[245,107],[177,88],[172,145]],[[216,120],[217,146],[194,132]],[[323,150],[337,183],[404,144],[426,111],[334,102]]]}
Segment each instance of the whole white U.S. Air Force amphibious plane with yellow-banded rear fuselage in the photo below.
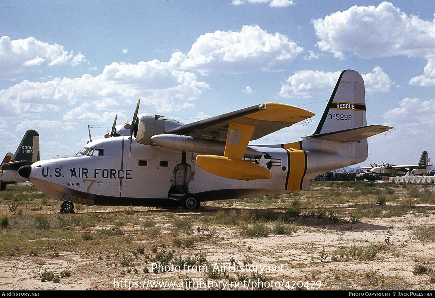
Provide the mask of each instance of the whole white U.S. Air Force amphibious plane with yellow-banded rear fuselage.
{"label": "whole white U.S. Air Force amphibious plane with yellow-banded rear fuselage", "polygon": [[248,145],[314,116],[290,105],[268,102],[189,124],[137,116],[138,108],[124,125],[130,137],[89,142],[20,175],[64,201],[64,212],[74,203],[196,209],[201,201],[306,190],[321,173],[363,162],[367,138],[391,129],[366,126],[364,81],[353,70],[341,73],[314,134],[298,142]]}

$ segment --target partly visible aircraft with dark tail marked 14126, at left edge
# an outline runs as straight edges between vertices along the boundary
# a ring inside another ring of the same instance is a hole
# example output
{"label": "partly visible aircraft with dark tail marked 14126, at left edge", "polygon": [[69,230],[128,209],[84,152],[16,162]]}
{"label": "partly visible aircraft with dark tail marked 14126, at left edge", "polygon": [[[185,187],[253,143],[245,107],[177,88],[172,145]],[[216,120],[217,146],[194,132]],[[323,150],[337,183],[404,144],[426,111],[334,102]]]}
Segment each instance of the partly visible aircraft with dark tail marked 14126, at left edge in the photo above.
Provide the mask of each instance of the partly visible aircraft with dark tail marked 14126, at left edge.
{"label": "partly visible aircraft with dark tail marked 14126, at left edge", "polygon": [[0,166],[0,190],[5,190],[8,183],[26,180],[18,174],[21,166],[31,165],[39,160],[39,134],[30,129],[20,142],[15,154],[7,153]]}

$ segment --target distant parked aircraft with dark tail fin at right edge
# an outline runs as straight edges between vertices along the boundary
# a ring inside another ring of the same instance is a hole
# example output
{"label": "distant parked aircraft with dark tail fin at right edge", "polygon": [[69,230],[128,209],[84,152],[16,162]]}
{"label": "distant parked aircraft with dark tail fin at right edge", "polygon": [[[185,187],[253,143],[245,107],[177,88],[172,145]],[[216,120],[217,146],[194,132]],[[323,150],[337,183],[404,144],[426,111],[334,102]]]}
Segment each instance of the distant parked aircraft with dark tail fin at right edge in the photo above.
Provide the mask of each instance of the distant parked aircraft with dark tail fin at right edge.
{"label": "distant parked aircraft with dark tail fin at right edge", "polygon": [[428,152],[424,150],[416,165],[396,166],[382,163],[382,166],[378,166],[374,163],[369,167],[361,167],[360,169],[367,169],[367,171],[360,173],[360,176],[367,180],[381,180],[382,177],[390,176],[423,176],[429,171],[429,166],[433,166],[429,163]]}

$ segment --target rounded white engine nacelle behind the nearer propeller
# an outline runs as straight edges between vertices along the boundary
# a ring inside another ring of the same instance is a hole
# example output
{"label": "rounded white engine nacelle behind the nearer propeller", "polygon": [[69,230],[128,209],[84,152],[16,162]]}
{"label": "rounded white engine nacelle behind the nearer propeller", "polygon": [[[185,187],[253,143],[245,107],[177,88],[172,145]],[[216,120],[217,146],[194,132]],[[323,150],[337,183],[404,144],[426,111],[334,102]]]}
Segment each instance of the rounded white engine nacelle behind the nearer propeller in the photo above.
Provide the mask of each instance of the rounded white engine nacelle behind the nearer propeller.
{"label": "rounded white engine nacelle behind the nearer propeller", "polygon": [[151,137],[164,134],[165,131],[183,125],[183,123],[161,115],[141,114],[137,116],[136,142],[151,145]]}

